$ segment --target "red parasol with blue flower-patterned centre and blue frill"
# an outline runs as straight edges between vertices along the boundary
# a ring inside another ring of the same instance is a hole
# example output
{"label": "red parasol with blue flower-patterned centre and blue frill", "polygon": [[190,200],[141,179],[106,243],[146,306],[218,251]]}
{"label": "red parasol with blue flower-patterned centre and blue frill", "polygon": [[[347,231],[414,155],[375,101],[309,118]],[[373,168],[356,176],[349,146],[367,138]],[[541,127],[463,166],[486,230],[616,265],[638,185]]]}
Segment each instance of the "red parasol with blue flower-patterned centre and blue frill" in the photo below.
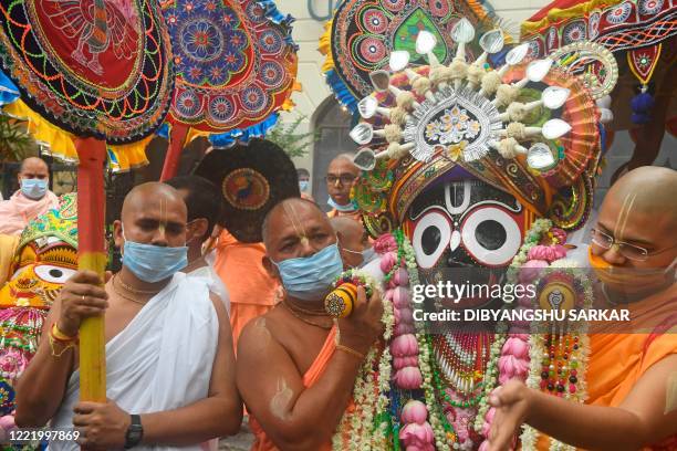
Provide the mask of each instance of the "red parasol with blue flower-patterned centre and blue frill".
{"label": "red parasol with blue flower-patterned centre and blue frill", "polygon": [[176,174],[187,138],[219,147],[261,137],[290,109],[296,45],[291,15],[272,0],[160,2],[174,46],[176,91],[162,179]]}

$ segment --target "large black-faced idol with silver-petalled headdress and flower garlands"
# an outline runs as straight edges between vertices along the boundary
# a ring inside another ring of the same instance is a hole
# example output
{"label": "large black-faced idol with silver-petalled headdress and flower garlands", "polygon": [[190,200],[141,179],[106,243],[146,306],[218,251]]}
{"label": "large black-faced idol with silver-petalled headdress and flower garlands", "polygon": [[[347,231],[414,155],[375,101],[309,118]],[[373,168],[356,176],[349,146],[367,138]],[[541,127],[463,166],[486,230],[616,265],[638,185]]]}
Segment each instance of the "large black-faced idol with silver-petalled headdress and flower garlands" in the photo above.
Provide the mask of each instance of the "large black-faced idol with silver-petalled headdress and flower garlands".
{"label": "large black-faced idol with silver-petalled headdress and flower garlands", "polygon": [[[587,42],[529,61],[528,44],[508,45],[499,29],[476,36],[466,19],[450,28],[454,50],[438,34],[419,30],[415,49],[390,51],[357,103],[351,137],[363,175],[352,199],[382,255],[387,345],[367,356],[334,449],[486,449],[487,398],[511,378],[585,400],[581,329],[528,335],[529,324],[512,323],[434,335],[413,321],[409,289],[481,268],[486,283],[534,283],[542,307],[590,306],[592,289],[574,277],[565,244],[592,208],[615,61]],[[548,283],[515,271],[548,266],[559,269]],[[343,282],[374,283],[358,272]],[[502,307],[527,308],[523,301]],[[527,427],[522,449],[534,449],[537,436]]]}

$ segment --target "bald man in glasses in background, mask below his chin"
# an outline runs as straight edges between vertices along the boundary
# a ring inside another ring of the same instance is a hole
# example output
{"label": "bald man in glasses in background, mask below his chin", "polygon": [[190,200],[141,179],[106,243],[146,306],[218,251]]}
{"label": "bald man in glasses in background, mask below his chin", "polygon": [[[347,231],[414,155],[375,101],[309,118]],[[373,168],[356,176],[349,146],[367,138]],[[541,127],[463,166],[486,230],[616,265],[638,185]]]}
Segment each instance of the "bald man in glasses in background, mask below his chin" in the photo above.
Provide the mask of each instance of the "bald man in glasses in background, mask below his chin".
{"label": "bald man in glasses in background, mask below his chin", "polygon": [[326,169],[327,203],[332,210],[327,213],[330,218],[346,216],[358,220],[355,206],[351,202],[351,189],[360,177],[360,169],[353,164],[351,154],[341,154],[330,162]]}

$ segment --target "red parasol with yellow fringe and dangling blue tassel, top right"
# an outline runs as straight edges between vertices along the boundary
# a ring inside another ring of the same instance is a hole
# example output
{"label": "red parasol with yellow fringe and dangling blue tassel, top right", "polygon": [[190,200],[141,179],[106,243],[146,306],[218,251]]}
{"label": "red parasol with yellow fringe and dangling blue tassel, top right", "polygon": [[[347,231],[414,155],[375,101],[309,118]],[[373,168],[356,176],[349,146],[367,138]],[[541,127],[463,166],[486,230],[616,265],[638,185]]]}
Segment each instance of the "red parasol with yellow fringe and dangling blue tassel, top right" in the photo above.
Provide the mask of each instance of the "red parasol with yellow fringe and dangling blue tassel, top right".
{"label": "red parasol with yellow fringe and dangling blue tassel, top right", "polygon": [[[533,56],[560,52],[564,45],[585,40],[611,51],[619,65],[619,80],[613,93],[610,128],[629,129],[636,144],[633,158],[614,178],[626,166],[632,169],[654,161],[664,129],[671,133],[677,119],[677,105],[671,102],[677,76],[676,2],[556,0],[522,24],[522,39],[530,43]],[[585,66],[593,82],[606,76],[598,67]]]}

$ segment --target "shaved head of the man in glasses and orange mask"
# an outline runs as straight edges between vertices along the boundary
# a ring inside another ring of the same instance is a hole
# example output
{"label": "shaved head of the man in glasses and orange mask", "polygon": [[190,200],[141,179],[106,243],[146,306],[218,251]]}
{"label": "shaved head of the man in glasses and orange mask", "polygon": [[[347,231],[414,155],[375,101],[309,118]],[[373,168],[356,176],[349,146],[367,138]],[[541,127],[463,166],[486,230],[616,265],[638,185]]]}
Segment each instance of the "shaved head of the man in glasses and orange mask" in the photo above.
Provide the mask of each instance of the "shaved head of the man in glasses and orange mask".
{"label": "shaved head of the man in glasses and orange mask", "polygon": [[608,190],[597,229],[616,241],[646,249],[646,261],[624,258],[617,247],[592,251],[607,263],[628,268],[666,268],[677,258],[677,171],[656,166],[631,170]]}

